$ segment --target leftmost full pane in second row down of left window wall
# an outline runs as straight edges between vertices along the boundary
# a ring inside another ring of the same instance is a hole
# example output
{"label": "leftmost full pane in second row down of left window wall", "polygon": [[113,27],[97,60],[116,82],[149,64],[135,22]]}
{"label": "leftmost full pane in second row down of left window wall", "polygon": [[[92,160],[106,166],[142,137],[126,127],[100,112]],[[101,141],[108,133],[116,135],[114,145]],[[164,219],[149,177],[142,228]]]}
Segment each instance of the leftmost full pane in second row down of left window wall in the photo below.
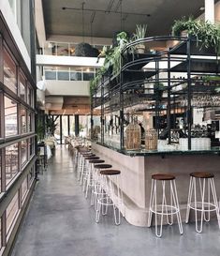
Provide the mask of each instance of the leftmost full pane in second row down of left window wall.
{"label": "leftmost full pane in second row down of left window wall", "polygon": [[18,134],[18,104],[5,97],[5,133],[7,136]]}

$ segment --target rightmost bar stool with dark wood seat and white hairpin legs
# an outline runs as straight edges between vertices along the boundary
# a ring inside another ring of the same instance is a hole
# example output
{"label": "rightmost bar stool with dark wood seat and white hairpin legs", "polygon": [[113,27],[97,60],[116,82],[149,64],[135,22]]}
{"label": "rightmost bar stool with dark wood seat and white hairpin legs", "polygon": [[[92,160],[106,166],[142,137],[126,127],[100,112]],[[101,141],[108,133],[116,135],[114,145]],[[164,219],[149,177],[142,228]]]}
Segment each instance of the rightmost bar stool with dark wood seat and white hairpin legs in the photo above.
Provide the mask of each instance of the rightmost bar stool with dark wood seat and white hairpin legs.
{"label": "rightmost bar stool with dark wood seat and white hairpin legs", "polygon": [[[185,223],[188,223],[189,221],[190,210],[191,209],[195,210],[196,231],[198,233],[202,232],[203,220],[210,221],[210,213],[213,211],[216,212],[218,227],[220,229],[219,206],[217,202],[217,196],[216,196],[216,190],[215,190],[213,178],[214,178],[213,173],[202,173],[202,172],[190,173]],[[206,184],[207,184],[207,187],[206,187]],[[197,191],[197,188],[198,188],[198,191]],[[211,192],[213,196],[212,203],[211,203]],[[193,193],[194,193],[194,202],[192,202]],[[200,196],[199,201],[198,201],[198,194]],[[201,213],[200,227],[198,227],[198,212]],[[208,216],[206,216],[206,213],[208,213]]]}

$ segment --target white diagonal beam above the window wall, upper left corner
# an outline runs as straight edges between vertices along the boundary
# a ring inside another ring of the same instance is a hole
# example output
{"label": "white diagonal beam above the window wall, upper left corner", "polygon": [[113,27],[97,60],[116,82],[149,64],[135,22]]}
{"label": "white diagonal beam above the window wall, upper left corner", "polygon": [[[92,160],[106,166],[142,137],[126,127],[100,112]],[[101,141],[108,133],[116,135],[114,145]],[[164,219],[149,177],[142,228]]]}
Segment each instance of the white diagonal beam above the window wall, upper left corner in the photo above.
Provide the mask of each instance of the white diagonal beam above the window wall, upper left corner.
{"label": "white diagonal beam above the window wall, upper left corner", "polygon": [[21,31],[18,24],[16,23],[15,16],[12,12],[12,9],[10,8],[8,0],[0,0],[0,11],[2,12],[3,17],[6,20],[12,37],[15,39],[16,44],[20,52],[22,53],[22,57],[26,63],[27,68],[29,68],[29,70],[31,71],[31,59],[23,42]]}

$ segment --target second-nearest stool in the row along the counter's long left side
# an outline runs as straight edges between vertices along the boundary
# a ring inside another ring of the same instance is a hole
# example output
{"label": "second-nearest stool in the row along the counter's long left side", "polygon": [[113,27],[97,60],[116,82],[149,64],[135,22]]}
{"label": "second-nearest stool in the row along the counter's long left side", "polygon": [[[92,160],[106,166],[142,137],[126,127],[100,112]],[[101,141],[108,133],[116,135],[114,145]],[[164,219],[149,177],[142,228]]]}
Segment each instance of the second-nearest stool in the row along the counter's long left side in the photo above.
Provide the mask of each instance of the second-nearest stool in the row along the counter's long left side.
{"label": "second-nearest stool in the row along the counter's long left side", "polygon": [[106,169],[110,169],[112,167],[111,164],[95,164],[94,165],[94,186],[92,188],[92,195],[91,195],[91,205],[97,205],[97,196],[101,193],[105,193],[104,191],[100,191],[101,188],[101,178],[100,178],[100,172]]}

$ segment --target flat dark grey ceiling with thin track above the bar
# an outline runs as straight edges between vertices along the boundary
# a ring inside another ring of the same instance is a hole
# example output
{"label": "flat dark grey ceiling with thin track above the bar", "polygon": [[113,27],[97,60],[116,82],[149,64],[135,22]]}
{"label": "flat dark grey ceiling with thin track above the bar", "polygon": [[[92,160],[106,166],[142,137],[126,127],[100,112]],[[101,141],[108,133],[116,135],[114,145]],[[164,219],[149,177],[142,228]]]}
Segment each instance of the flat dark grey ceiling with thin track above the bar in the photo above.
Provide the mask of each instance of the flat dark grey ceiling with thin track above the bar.
{"label": "flat dark grey ceiling with thin track above the bar", "polygon": [[148,24],[147,36],[169,35],[175,19],[198,17],[205,0],[123,0],[122,15],[120,1],[42,0],[46,36],[82,36],[82,2],[84,37],[91,37],[92,21],[92,36],[96,38],[112,38],[121,29],[132,33],[137,23]]}

